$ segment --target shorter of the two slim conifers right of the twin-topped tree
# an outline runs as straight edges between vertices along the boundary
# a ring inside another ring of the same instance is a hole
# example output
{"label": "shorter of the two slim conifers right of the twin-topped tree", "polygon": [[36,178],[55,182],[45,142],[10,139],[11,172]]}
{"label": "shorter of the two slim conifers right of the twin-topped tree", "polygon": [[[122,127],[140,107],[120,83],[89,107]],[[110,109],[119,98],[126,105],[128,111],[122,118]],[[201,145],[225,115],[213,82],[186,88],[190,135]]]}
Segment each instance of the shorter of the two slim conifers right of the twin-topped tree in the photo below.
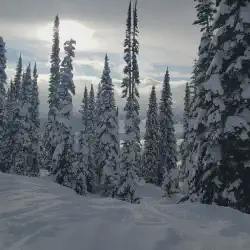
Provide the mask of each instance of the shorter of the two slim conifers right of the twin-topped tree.
{"label": "shorter of the two slim conifers right of the twin-topped tree", "polygon": [[146,182],[158,184],[159,118],[155,86],[152,87],[146,120],[143,152],[143,176]]}

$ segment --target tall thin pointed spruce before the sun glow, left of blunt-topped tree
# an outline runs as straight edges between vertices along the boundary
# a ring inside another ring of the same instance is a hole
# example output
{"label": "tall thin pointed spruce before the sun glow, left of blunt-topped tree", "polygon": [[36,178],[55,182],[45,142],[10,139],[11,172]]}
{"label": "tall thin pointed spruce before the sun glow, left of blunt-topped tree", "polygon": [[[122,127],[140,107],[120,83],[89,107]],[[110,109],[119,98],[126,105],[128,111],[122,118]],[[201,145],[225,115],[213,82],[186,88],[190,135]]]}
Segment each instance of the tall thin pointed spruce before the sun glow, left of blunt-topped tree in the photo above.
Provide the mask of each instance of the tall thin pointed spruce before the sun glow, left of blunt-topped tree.
{"label": "tall thin pointed spruce before the sun glow, left of blunt-topped tree", "polygon": [[50,80],[49,80],[49,112],[48,112],[48,122],[45,125],[45,133],[43,138],[43,153],[42,153],[42,163],[44,168],[52,171],[53,164],[53,154],[58,144],[58,126],[59,124],[55,121],[56,116],[58,116],[59,109],[59,95],[58,88],[60,85],[60,38],[59,38],[59,16],[55,17],[54,27],[53,27],[53,45],[52,53],[50,56]]}

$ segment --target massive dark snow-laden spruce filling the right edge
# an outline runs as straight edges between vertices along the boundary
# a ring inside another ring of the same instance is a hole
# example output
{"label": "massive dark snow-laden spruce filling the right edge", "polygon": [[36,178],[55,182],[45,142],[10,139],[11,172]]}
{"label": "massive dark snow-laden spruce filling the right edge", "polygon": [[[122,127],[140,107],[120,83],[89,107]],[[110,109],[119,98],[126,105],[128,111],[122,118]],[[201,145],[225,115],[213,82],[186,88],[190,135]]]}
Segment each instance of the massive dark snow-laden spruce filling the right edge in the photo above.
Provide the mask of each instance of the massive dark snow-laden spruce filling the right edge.
{"label": "massive dark snow-laden spruce filling the right edge", "polygon": [[[222,0],[213,28],[215,55],[205,82],[207,109],[202,168],[195,196],[250,213],[249,15],[250,2]],[[209,102],[210,101],[210,102]]]}

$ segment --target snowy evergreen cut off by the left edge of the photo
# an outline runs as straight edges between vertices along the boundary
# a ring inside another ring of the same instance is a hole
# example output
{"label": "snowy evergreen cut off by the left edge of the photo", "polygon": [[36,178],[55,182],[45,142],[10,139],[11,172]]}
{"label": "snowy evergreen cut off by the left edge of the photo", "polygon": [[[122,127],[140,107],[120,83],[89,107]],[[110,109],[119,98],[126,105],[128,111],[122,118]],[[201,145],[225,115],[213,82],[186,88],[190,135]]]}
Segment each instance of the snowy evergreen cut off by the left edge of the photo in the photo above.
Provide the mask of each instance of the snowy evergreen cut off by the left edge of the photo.
{"label": "snowy evergreen cut off by the left edge of the photo", "polygon": [[[0,141],[3,139],[4,130],[5,130],[5,99],[6,99],[6,85],[7,85],[7,74],[6,69],[6,49],[5,42],[3,38],[0,37]],[[2,160],[1,151],[0,151],[0,161]]]}

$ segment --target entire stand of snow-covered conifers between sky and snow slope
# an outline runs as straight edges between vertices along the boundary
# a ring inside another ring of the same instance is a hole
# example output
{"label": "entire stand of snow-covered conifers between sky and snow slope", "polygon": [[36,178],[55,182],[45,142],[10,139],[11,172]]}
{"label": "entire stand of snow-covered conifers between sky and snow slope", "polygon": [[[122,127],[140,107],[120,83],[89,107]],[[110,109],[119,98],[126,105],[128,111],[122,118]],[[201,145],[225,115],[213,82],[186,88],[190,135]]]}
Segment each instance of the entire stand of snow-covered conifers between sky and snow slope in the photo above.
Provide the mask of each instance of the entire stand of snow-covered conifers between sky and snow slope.
{"label": "entire stand of snow-covered conifers between sky and snow slope", "polygon": [[[55,17],[50,53],[48,119],[41,133],[39,68],[23,65],[7,78],[6,44],[0,37],[0,171],[39,177],[41,169],[59,185],[140,203],[136,182],[160,187],[178,203],[199,202],[250,213],[250,1],[195,0],[200,45],[186,84],[183,142],[178,163],[169,68],[157,100],[152,87],[145,134],[140,131],[140,53],[137,0],[129,3],[121,88],[124,140],[109,55],[98,91],[85,87],[78,108],[81,131],[72,131],[74,59],[77,42],[64,42],[60,58],[60,18]],[[141,141],[144,140],[142,145]]]}

